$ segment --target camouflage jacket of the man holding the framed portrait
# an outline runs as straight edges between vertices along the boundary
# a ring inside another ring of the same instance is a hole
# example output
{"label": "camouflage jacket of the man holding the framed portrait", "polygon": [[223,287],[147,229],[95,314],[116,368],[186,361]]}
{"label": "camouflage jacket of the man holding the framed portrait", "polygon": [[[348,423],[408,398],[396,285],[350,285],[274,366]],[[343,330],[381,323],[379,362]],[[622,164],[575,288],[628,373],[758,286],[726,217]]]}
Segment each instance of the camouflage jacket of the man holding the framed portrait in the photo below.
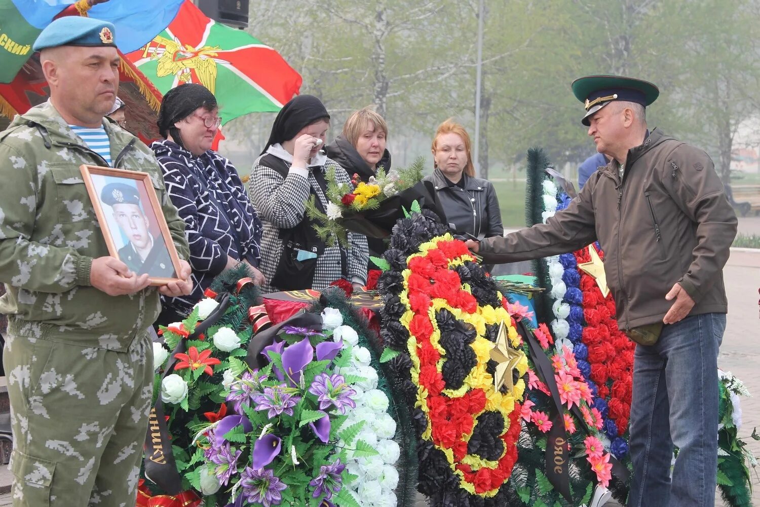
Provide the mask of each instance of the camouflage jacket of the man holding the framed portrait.
{"label": "camouflage jacket of the man holding the framed portrait", "polygon": [[[160,166],[135,136],[104,122],[113,166],[150,174],[180,258],[185,222],[166,196]],[[79,166],[106,166],[51,103],[16,116],[0,133],[0,312],[9,334],[126,350],[152,325],[159,294],[108,296],[90,284],[93,258],[109,255]]]}

